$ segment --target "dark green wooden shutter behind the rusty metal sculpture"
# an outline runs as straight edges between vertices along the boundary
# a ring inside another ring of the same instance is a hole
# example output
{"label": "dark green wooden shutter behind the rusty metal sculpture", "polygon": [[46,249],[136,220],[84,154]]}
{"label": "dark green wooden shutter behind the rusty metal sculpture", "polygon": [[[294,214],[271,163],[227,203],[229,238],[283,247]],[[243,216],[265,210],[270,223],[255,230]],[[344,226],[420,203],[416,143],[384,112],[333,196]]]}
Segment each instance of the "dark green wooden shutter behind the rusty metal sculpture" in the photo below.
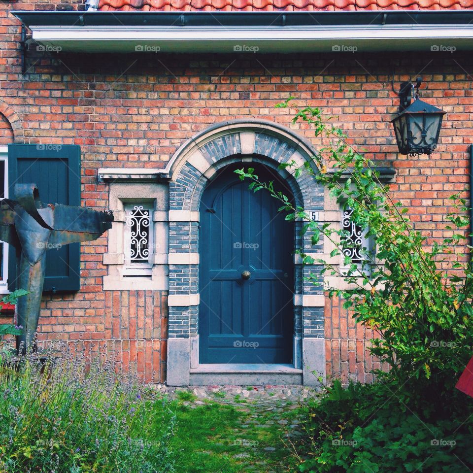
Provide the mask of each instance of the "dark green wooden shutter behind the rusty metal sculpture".
{"label": "dark green wooden shutter behind the rusty metal sculpture", "polygon": [[[80,205],[80,146],[8,145],[8,191],[14,198],[16,183],[34,183],[43,203]],[[15,251],[10,250],[8,289],[15,289]],[[50,249],[46,254],[44,291],[78,291],[80,243]]]}

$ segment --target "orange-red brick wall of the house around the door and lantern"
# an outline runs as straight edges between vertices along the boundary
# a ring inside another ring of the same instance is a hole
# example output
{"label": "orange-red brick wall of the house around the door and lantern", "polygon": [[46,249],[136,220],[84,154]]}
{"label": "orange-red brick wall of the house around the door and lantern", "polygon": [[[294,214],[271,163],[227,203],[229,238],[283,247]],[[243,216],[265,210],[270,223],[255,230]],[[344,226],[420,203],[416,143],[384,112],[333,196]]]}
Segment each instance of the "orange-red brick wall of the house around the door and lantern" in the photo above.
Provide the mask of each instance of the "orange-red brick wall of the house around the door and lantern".
{"label": "orange-red brick wall of the house around the door and lantern", "polygon": [[[15,9],[75,9],[82,3],[28,3]],[[101,167],[164,168],[183,141],[210,124],[263,118],[312,139],[305,124],[291,125],[292,110],[274,109],[289,96],[320,106],[370,157],[397,170],[392,190],[409,207],[417,228],[431,238],[446,236],[446,198],[468,197],[468,155],[473,143],[473,58],[469,53],[333,55],[91,56],[45,54],[30,46],[21,75],[20,24],[0,5],[0,104],[18,114],[26,143],[78,144],[82,149],[82,203],[106,208],[108,185],[97,182]],[[396,153],[389,120],[399,82],[421,73],[422,98],[447,111],[438,152],[409,158]],[[0,144],[12,139],[0,115]],[[167,307],[165,292],[103,292],[106,237],[83,244],[81,290],[45,296],[41,340],[79,343],[107,351],[149,380],[164,380]],[[338,301],[325,309],[330,374],[370,381],[374,361]]]}

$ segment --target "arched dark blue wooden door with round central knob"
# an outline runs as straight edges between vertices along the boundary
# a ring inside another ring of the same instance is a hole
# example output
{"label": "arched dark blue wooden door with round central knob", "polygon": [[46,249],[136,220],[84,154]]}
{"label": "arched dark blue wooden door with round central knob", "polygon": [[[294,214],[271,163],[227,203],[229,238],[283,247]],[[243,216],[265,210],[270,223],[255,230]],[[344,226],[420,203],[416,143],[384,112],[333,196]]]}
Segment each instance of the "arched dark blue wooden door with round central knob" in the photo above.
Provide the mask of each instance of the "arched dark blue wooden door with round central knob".
{"label": "arched dark blue wooden door with round central knob", "polygon": [[[292,363],[294,226],[235,169],[221,170],[201,202],[200,363]],[[290,196],[274,171],[256,172]]]}

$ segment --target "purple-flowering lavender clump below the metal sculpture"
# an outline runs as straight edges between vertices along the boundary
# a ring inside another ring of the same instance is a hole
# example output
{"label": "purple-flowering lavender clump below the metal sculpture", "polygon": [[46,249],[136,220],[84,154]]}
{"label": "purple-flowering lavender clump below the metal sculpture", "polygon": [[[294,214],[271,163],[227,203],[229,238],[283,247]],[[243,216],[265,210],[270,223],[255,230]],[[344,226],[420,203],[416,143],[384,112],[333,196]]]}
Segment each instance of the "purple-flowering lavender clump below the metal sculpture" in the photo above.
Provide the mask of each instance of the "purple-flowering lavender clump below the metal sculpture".
{"label": "purple-flowering lavender clump below the metal sculpture", "polygon": [[173,472],[173,424],[166,399],[99,363],[0,366],[1,473]]}

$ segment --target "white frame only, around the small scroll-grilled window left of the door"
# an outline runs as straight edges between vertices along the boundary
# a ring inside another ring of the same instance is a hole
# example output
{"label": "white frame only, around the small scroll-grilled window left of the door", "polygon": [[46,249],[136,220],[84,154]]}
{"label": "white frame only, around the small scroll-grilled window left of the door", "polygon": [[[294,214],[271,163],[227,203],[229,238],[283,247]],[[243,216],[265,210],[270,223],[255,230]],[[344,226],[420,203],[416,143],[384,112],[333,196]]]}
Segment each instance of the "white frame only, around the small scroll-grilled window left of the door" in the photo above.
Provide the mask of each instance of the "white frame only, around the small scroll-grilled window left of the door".
{"label": "white frame only, around the small scroll-grilled window left of the door", "polygon": [[[142,206],[143,210],[148,211],[148,261],[142,263],[131,262],[131,227],[127,220],[129,212],[132,211],[136,205]],[[150,202],[126,202],[124,203],[125,210],[125,227],[123,238],[123,252],[125,255],[125,267],[123,269],[124,276],[150,276],[153,273],[153,254],[154,254],[154,222],[153,222],[153,204]]]}

